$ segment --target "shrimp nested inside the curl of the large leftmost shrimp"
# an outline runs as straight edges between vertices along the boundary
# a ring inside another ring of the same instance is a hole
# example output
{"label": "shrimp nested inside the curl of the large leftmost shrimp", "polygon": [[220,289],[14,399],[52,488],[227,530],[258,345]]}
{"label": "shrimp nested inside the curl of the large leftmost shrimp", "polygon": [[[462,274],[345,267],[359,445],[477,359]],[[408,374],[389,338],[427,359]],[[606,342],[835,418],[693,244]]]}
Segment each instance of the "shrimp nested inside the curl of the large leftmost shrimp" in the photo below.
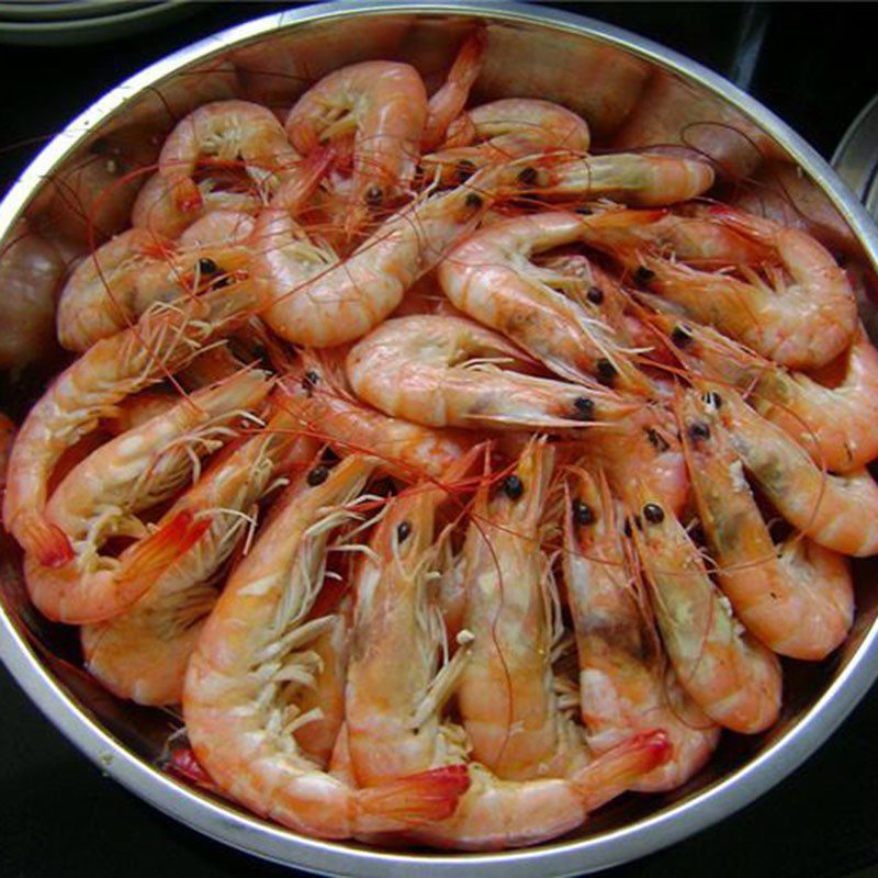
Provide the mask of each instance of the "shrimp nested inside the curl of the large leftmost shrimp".
{"label": "shrimp nested inside the curl of the large leftmost shrimp", "polygon": [[91,569],[110,537],[145,536],[136,513],[183,487],[200,458],[235,436],[233,425],[252,417],[270,386],[264,372],[239,372],[183,397],[75,466],[49,498],[46,516],[70,540],[77,565]]}

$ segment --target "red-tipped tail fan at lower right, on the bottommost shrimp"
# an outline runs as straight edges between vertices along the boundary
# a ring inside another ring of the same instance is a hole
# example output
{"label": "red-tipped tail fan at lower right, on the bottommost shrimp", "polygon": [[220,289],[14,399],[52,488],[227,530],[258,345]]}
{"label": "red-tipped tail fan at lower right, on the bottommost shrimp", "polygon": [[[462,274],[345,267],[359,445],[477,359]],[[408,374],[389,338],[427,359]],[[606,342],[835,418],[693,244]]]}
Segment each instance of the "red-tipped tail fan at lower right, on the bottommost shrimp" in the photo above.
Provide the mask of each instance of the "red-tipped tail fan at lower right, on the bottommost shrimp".
{"label": "red-tipped tail fan at lower right, on the bottommost shrimp", "polygon": [[586,810],[594,811],[664,765],[672,751],[665,732],[641,732],[589,763],[573,778],[573,784],[582,795]]}

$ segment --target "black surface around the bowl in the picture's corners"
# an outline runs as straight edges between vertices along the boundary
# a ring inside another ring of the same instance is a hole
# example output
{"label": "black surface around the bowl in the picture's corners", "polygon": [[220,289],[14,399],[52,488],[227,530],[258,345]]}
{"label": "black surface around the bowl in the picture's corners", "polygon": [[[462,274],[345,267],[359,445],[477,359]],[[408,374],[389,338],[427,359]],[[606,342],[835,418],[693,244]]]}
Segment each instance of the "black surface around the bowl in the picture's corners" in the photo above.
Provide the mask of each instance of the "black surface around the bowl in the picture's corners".
{"label": "black surface around the bowl in the picture's corners", "polygon": [[[874,5],[548,3],[650,36],[746,85],[824,156],[878,89]],[[0,46],[0,189],[42,142],[120,80],[175,48],[283,8],[202,3],[112,44]],[[742,72],[743,71],[743,72]],[[743,80],[740,77],[743,76]],[[878,875],[878,691],[802,768],[722,824],[610,878]],[[173,823],[81,757],[0,669],[0,876],[291,875]]]}

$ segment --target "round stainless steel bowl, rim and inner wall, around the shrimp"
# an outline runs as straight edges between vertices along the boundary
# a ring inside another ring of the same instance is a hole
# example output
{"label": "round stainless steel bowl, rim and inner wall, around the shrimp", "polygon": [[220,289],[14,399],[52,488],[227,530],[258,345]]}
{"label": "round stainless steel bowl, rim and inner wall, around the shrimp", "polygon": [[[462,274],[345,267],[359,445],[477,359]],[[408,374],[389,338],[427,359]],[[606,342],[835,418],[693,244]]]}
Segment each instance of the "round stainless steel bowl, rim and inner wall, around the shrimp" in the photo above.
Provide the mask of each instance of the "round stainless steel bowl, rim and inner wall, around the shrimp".
{"label": "round stainless steel bowl, rim and inner wall, around the shrimp", "polygon": [[[114,88],[45,147],[0,204],[0,239],[24,213],[36,228],[47,217],[57,218],[58,176],[89,156],[105,154],[108,142],[124,138],[133,127],[162,135],[175,117],[199,102],[226,97],[228,89],[289,106],[309,79],[363,58],[407,59],[436,81],[460,33],[474,20],[486,22],[489,34],[479,99],[532,94],[564,101],[588,119],[597,145],[606,146],[619,139],[632,113],[640,114],[641,122],[646,114],[649,121],[655,90],[671,87],[688,122],[698,123],[680,125],[686,143],[710,151],[717,148],[711,132],[732,126],[758,146],[750,157],[731,162],[718,156],[733,176],[748,175],[762,155],[800,166],[849,226],[853,258],[870,270],[875,267],[878,229],[852,193],[801,137],[721,77],[596,21],[538,7],[465,0],[303,8],[233,27],[165,58]],[[83,230],[72,227],[68,233],[81,237]],[[873,304],[860,304],[864,316],[874,318]],[[168,717],[116,700],[77,671],[69,632],[46,623],[29,607],[13,549],[0,559],[0,655],[50,721],[101,769],[166,813],[243,851],[335,875],[386,877],[417,869],[424,875],[463,870],[507,878],[560,876],[634,859],[721,820],[765,792],[825,741],[874,678],[875,573],[875,563],[856,564],[857,620],[833,660],[818,666],[788,665],[784,717],[769,733],[751,739],[727,735],[710,766],[682,790],[623,798],[572,836],[496,854],[316,841],[178,783],[158,767],[172,730]]]}

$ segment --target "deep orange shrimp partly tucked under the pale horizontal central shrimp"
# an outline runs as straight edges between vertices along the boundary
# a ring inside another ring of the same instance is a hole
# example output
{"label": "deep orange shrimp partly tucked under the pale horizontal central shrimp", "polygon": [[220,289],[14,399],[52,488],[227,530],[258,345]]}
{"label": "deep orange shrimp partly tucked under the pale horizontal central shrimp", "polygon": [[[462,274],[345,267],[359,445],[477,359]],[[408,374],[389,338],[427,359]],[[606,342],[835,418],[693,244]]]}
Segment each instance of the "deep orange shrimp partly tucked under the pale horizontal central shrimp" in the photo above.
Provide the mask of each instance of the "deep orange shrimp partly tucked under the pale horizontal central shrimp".
{"label": "deep orange shrimp partly tucked under the pale horizontal central shrimp", "polygon": [[413,474],[438,477],[472,446],[469,431],[425,427],[363,405],[348,390],[344,370],[328,359],[306,350],[302,361],[304,371],[284,382],[286,408],[306,432],[340,454],[368,448],[382,469],[410,481]]}

